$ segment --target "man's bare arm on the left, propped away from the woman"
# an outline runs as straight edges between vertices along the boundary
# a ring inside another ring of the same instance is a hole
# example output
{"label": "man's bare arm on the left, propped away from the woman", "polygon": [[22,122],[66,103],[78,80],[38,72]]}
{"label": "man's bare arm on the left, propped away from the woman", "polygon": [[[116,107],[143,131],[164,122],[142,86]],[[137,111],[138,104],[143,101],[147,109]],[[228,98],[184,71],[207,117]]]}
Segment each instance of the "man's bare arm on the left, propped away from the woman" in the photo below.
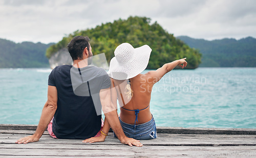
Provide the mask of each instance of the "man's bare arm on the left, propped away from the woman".
{"label": "man's bare arm on the left, propped away from the woman", "polygon": [[32,136],[24,137],[17,140],[15,143],[26,144],[30,142],[37,142],[45,132],[46,127],[52,120],[55,111],[57,109],[57,88],[55,86],[48,85],[48,99],[45,106],[42,108],[42,114],[35,133]]}

